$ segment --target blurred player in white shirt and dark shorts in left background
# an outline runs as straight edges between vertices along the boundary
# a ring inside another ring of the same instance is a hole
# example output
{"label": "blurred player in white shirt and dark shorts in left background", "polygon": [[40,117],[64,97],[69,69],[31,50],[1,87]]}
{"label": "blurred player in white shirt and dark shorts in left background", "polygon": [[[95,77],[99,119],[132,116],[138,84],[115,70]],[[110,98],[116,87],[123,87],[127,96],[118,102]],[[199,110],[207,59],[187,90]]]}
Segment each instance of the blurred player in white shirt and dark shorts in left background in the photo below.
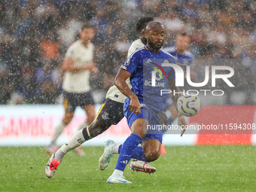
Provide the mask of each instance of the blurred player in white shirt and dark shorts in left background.
{"label": "blurred player in white shirt and dark shorts in left background", "polygon": [[[95,75],[98,69],[93,62],[94,45],[91,42],[95,36],[92,26],[85,25],[79,33],[80,39],[75,41],[67,50],[62,64],[64,79],[62,84],[65,116],[56,126],[49,146],[45,148],[48,154],[58,149],[56,139],[74,117],[75,108],[80,106],[87,113],[87,121],[81,128],[89,126],[95,118],[95,104],[90,93],[90,74]],[[82,148],[75,148],[76,154],[84,156]]]}

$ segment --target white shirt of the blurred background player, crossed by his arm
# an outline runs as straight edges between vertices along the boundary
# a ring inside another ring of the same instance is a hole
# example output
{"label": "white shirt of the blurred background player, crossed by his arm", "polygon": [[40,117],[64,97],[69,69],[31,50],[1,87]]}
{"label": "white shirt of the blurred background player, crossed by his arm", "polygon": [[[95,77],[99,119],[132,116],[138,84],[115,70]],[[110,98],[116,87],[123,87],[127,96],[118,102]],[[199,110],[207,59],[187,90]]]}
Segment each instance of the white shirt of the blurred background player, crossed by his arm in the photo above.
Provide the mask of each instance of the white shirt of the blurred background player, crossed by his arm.
{"label": "white shirt of the blurred background player, crossed by his arm", "polygon": [[[74,66],[86,66],[93,61],[94,45],[89,43],[84,47],[81,40],[75,41],[67,50],[66,57],[73,60]],[[87,93],[90,91],[90,70],[65,72],[63,90],[70,93]]]}

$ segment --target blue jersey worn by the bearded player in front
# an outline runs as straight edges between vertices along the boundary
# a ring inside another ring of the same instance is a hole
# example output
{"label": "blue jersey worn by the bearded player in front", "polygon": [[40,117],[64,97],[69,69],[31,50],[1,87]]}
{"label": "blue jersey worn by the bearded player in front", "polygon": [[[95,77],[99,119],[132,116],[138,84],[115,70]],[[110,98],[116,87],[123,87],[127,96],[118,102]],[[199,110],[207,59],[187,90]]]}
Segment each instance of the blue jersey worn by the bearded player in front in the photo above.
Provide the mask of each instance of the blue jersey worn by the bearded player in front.
{"label": "blue jersey worn by the bearded player in front", "polygon": [[121,66],[131,74],[133,93],[157,111],[163,111],[170,97],[169,94],[161,96],[161,90],[169,90],[168,80],[175,79],[175,70],[168,66],[169,63],[176,63],[172,55],[162,50],[154,53],[145,46],[133,52]]}

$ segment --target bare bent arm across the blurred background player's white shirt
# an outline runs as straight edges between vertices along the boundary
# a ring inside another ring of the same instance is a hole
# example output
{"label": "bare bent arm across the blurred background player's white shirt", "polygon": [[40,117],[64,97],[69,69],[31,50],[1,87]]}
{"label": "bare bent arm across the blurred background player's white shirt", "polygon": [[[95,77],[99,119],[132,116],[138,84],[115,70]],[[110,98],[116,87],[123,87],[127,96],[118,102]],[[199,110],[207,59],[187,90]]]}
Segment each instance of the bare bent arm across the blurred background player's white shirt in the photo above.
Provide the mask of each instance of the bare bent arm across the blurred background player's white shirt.
{"label": "bare bent arm across the blurred background player's white shirt", "polygon": [[65,57],[62,63],[62,72],[78,72],[81,70],[92,70],[95,67],[95,63],[93,61],[88,62],[86,66],[75,66],[74,61]]}

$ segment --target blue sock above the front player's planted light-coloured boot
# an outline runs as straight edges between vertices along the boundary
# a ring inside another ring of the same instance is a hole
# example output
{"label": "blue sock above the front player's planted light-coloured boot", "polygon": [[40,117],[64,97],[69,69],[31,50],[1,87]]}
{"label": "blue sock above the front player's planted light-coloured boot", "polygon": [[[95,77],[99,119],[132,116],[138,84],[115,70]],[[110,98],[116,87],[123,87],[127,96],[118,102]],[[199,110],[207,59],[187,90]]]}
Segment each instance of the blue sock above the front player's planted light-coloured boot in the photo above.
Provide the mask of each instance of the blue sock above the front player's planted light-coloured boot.
{"label": "blue sock above the front player's planted light-coloured boot", "polygon": [[[122,149],[117,160],[117,165],[114,169],[123,171],[132,158],[133,152],[136,151],[137,146],[142,142],[142,138],[135,133],[132,133],[126,140],[123,142]],[[118,150],[119,151],[119,150]]]}

